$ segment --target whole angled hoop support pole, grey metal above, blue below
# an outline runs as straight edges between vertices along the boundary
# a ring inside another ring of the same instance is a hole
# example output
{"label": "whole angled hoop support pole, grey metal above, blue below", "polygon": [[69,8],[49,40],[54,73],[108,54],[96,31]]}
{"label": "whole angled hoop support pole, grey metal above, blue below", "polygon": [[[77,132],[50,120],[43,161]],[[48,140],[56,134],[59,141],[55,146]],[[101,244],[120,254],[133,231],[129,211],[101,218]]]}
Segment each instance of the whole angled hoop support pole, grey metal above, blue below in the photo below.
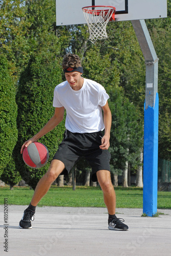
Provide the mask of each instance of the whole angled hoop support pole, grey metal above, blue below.
{"label": "whole angled hoop support pole, grey metal above, blue below", "polygon": [[143,213],[157,212],[158,176],[158,58],[145,21],[132,20],[146,65],[143,150]]}

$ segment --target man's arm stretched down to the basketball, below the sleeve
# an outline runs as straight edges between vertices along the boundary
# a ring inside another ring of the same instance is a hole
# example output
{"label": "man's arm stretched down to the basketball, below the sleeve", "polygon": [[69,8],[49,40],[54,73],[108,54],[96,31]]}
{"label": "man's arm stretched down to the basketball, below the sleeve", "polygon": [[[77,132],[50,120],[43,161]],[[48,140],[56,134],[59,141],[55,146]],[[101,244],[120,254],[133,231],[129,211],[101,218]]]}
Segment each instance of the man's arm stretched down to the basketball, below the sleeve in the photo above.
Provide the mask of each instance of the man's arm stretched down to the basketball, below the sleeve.
{"label": "man's arm stretched down to the basketball, below the sleeve", "polygon": [[46,133],[52,131],[63,120],[64,110],[65,109],[63,106],[62,108],[55,108],[54,116],[44,125],[44,127],[36,135],[34,135],[31,139],[27,140],[25,143],[23,143],[20,153],[22,154],[25,146],[27,147],[32,142],[36,142]]}

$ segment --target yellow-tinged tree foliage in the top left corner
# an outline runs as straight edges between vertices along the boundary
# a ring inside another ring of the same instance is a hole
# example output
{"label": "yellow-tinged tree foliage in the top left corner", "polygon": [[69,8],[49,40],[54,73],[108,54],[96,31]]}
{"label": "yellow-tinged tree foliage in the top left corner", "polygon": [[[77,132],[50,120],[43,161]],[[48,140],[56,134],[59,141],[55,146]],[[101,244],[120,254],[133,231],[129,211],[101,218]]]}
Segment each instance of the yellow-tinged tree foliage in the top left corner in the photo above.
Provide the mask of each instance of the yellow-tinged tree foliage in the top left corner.
{"label": "yellow-tinged tree foliage in the top left corner", "polygon": [[7,57],[10,73],[17,78],[28,59],[29,45],[26,38],[26,5],[23,0],[0,2],[0,52]]}

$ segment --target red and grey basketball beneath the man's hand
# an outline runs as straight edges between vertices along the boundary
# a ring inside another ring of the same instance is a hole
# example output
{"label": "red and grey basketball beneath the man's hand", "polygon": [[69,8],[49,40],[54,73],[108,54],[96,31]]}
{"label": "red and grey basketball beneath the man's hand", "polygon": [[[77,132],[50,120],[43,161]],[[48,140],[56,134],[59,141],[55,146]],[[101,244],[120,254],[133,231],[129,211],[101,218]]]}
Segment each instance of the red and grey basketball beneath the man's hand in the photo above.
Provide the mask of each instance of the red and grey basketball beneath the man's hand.
{"label": "red and grey basketball beneath the man's hand", "polygon": [[47,147],[40,142],[33,142],[25,147],[22,153],[23,161],[31,168],[43,167],[49,158]]}

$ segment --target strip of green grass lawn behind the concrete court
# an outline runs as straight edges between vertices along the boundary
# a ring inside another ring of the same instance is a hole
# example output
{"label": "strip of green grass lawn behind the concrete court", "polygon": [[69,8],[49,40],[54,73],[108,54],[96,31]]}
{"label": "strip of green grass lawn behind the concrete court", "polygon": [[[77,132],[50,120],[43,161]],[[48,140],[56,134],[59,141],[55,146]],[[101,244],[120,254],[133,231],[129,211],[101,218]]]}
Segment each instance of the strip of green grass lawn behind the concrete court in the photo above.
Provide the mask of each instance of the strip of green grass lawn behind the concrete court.
{"label": "strip of green grass lawn behind the concrete court", "polygon": [[[34,190],[29,187],[17,187],[13,190],[9,186],[0,187],[0,204],[4,204],[4,198],[8,198],[8,204],[28,205],[32,199]],[[142,208],[142,188],[115,187],[117,208]],[[103,201],[103,192],[100,187],[76,186],[72,190],[70,186],[52,186],[42,198],[39,206],[65,206],[65,207],[106,207]],[[171,209],[171,192],[158,191],[159,209]]]}

